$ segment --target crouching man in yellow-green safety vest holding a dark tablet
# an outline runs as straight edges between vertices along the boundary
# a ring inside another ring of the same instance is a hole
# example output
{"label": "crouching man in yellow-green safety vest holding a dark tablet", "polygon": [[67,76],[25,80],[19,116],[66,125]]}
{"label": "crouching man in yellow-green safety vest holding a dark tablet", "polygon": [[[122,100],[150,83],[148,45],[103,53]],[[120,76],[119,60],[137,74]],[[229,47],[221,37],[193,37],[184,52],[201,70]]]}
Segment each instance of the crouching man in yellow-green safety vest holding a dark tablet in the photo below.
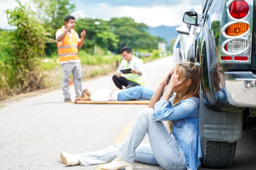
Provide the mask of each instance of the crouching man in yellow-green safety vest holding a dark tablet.
{"label": "crouching man in yellow-green safety vest holding a dark tablet", "polygon": [[[123,86],[130,88],[133,86],[145,85],[146,75],[143,61],[132,55],[132,50],[128,46],[121,48],[121,55],[123,56],[123,60],[121,61],[116,74],[112,77],[115,85],[119,89],[123,89]],[[130,73],[121,76],[121,70],[127,68],[132,69]]]}

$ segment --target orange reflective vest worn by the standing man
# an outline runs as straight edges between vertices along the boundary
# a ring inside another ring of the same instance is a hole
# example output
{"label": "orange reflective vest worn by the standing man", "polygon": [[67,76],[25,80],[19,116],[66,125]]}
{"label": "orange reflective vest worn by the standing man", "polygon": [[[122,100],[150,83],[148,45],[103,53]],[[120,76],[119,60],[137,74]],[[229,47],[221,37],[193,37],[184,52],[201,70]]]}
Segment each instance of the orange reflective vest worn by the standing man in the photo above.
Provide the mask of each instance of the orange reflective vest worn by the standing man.
{"label": "orange reflective vest worn by the standing man", "polygon": [[[58,29],[62,32],[63,29]],[[79,60],[78,57],[78,41],[76,38],[76,31],[72,31],[72,42],[70,42],[70,37],[68,34],[65,35],[65,38],[62,40],[62,44],[59,44],[58,41],[58,58],[60,62],[67,62],[70,60]]]}

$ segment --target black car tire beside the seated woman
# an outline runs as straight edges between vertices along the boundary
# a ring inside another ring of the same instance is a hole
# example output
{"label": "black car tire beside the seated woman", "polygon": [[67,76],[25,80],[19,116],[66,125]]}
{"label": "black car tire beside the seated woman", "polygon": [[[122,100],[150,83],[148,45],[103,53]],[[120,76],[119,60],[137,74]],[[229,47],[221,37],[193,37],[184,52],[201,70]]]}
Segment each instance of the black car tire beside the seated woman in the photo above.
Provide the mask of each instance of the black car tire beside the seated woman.
{"label": "black car tire beside the seated woman", "polygon": [[236,141],[207,141],[201,138],[203,158],[201,164],[205,168],[227,168],[234,160]]}

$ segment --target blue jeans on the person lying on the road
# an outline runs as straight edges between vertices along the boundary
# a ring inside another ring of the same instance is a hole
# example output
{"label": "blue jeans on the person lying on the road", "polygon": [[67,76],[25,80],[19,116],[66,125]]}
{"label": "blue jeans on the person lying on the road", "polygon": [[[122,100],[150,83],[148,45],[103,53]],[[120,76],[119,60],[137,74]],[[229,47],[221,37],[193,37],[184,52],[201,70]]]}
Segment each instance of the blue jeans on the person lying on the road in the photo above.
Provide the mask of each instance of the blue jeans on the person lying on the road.
{"label": "blue jeans on the person lying on the road", "polygon": [[118,93],[117,100],[150,100],[153,96],[154,91],[146,88],[146,86],[134,86],[121,90]]}

